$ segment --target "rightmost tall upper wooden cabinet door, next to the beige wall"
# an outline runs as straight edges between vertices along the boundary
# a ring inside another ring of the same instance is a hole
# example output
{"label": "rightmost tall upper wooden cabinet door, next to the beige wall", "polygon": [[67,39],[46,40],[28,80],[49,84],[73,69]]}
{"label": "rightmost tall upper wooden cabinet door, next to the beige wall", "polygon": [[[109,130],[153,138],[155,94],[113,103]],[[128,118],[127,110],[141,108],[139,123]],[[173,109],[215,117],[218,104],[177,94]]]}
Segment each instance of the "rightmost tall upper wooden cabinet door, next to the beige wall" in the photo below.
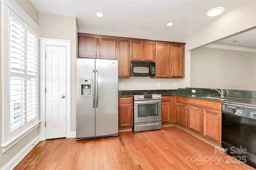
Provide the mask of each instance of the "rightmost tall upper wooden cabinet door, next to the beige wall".
{"label": "rightmost tall upper wooden cabinet door, next to the beige wall", "polygon": [[184,45],[171,44],[170,77],[184,78]]}

